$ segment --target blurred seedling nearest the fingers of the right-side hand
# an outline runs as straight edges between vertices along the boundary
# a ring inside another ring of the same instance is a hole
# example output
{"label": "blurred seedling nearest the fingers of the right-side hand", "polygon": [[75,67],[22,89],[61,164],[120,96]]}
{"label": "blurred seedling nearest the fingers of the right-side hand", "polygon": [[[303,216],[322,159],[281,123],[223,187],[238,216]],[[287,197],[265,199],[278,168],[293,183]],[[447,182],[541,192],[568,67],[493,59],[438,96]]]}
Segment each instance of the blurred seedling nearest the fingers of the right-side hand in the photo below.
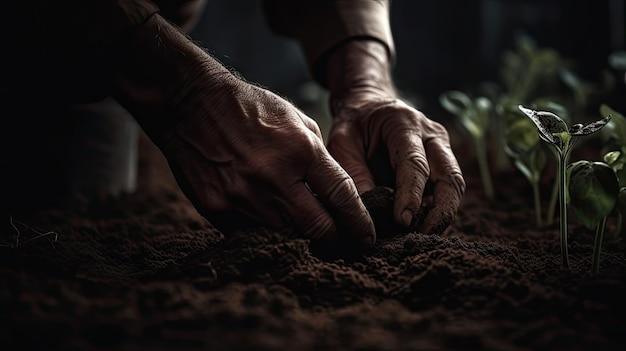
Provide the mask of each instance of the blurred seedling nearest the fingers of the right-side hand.
{"label": "blurred seedling nearest the fingers of the right-side hand", "polygon": [[476,150],[476,158],[483,183],[483,190],[488,199],[494,197],[493,182],[487,160],[486,135],[489,129],[491,101],[486,97],[472,99],[461,91],[448,91],[439,97],[441,105],[458,117],[463,128],[470,134]]}

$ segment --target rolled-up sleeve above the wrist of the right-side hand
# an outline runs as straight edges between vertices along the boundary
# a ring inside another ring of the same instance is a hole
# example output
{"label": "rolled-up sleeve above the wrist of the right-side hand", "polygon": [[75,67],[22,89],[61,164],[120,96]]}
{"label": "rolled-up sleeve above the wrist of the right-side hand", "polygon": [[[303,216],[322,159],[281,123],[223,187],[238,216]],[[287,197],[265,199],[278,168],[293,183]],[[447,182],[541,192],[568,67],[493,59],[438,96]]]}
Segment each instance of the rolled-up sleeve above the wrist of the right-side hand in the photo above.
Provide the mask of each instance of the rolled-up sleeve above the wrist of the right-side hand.
{"label": "rolled-up sleeve above the wrist of the right-side hand", "polygon": [[300,42],[318,81],[325,57],[347,40],[369,38],[383,43],[390,58],[395,49],[389,23],[390,0],[264,0],[268,26]]}

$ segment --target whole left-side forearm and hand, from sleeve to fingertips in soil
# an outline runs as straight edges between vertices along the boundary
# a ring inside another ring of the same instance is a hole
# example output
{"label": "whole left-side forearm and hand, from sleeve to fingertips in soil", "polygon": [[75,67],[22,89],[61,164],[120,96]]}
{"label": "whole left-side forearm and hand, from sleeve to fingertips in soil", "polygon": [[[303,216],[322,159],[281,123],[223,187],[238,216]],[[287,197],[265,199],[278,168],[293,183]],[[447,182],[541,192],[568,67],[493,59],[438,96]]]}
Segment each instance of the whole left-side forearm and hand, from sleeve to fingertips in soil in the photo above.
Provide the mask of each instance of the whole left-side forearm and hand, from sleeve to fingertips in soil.
{"label": "whole left-side forearm and hand, from sleeve to fingertips in soil", "polygon": [[322,247],[373,244],[356,185],[313,120],[237,78],[158,15],[127,42],[115,98],[161,149],[200,214],[216,224],[239,211],[329,244]]}

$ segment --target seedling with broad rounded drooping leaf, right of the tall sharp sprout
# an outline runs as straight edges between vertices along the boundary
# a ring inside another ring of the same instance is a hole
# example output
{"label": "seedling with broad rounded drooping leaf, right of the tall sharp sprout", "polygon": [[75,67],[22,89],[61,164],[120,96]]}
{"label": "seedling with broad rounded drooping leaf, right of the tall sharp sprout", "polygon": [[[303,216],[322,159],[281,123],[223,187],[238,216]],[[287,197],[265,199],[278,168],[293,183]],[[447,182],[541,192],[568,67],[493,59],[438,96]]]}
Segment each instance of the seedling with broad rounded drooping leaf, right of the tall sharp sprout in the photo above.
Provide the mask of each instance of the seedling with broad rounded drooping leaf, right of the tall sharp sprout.
{"label": "seedling with broad rounded drooping leaf, right of the tall sharp sprout", "polygon": [[567,173],[568,200],[574,215],[585,227],[596,230],[591,271],[598,273],[606,218],[613,212],[619,194],[617,176],[608,164],[586,160],[570,164]]}

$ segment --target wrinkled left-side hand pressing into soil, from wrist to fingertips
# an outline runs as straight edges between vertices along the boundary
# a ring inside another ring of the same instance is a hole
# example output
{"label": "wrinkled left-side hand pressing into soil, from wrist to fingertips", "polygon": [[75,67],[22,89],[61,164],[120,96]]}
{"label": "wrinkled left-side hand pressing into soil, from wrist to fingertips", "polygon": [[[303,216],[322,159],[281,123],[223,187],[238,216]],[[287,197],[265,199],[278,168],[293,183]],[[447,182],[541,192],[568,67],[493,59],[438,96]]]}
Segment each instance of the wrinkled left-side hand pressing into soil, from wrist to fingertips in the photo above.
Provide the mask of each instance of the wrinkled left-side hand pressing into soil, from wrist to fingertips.
{"label": "wrinkled left-side hand pressing into soil, from wrist to fingertips", "polygon": [[190,89],[179,110],[188,122],[161,148],[196,209],[212,222],[238,210],[323,242],[371,245],[373,222],[317,123],[268,90],[225,82],[217,99]]}

